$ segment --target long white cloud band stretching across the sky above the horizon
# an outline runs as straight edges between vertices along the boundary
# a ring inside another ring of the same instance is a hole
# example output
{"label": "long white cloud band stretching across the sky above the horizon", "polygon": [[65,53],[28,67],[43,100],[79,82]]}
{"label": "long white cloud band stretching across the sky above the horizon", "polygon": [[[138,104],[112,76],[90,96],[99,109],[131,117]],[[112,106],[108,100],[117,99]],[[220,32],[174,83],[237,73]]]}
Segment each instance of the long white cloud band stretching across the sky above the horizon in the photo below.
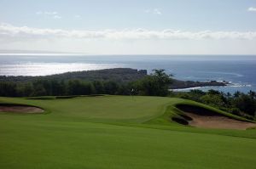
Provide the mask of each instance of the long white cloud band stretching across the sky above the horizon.
{"label": "long white cloud band stretching across the sky above the horizon", "polygon": [[256,40],[256,31],[152,31],[146,29],[77,31],[62,29],[40,29],[28,26],[0,24],[0,37],[28,37],[28,38],[77,38],[77,39],[166,39],[166,40],[201,40],[201,39],[247,39]]}

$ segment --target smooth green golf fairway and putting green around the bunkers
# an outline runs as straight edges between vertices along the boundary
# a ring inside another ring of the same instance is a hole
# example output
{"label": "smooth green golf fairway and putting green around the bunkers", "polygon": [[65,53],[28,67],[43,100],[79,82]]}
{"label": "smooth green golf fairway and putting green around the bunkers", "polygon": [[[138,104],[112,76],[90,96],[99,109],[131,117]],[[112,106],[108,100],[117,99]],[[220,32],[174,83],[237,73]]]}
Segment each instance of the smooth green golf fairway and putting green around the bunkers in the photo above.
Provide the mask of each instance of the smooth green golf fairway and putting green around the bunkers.
{"label": "smooth green golf fairway and putting green around the bunkers", "polygon": [[33,104],[49,112],[0,115],[0,168],[256,165],[256,130],[207,130],[169,122],[168,116],[178,113],[174,104],[196,104],[183,99],[104,96],[0,102]]}

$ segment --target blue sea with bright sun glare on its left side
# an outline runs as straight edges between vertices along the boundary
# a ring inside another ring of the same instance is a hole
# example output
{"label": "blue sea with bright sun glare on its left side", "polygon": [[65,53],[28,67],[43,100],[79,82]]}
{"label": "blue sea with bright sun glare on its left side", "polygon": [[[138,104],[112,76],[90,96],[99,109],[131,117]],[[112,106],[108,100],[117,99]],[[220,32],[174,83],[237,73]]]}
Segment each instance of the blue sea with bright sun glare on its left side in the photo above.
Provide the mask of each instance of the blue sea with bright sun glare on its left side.
{"label": "blue sea with bright sun glare on its left side", "polygon": [[[78,70],[108,68],[165,69],[186,81],[229,81],[229,87],[201,87],[224,92],[256,91],[256,56],[132,55],[132,56],[41,56],[1,55],[1,76],[44,76]],[[188,89],[187,89],[188,90]]]}

